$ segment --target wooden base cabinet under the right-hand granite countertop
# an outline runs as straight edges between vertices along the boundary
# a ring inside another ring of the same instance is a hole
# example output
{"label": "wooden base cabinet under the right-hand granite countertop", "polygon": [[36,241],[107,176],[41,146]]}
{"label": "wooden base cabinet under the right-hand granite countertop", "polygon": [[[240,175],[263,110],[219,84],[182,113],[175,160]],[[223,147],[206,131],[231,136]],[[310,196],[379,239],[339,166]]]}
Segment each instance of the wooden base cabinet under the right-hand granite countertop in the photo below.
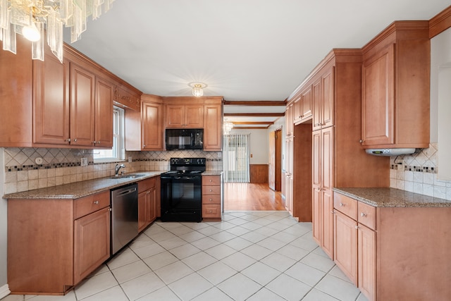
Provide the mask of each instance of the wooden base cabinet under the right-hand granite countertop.
{"label": "wooden base cabinet under the right-hand granite countertop", "polygon": [[334,192],[334,261],[369,301],[451,300],[451,207],[372,207]]}

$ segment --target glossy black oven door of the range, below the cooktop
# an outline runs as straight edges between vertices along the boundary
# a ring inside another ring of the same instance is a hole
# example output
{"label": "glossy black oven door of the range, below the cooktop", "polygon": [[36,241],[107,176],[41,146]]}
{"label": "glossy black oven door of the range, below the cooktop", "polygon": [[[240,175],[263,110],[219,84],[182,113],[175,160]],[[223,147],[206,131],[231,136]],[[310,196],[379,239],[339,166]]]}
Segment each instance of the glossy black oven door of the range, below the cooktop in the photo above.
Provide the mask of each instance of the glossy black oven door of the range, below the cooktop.
{"label": "glossy black oven door of the range, below the cooktop", "polygon": [[202,219],[202,176],[161,176],[161,221]]}

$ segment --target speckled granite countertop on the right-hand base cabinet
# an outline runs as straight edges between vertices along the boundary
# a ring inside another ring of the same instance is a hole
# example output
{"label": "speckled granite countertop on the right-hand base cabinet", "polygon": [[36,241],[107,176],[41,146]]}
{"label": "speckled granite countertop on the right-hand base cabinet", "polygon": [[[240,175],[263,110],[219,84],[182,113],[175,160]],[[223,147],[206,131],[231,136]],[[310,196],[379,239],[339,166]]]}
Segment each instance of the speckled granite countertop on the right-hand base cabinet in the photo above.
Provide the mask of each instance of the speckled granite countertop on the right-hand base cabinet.
{"label": "speckled granite countertop on the right-hand base cabinet", "polygon": [[451,207],[451,201],[395,188],[333,188],[373,207]]}

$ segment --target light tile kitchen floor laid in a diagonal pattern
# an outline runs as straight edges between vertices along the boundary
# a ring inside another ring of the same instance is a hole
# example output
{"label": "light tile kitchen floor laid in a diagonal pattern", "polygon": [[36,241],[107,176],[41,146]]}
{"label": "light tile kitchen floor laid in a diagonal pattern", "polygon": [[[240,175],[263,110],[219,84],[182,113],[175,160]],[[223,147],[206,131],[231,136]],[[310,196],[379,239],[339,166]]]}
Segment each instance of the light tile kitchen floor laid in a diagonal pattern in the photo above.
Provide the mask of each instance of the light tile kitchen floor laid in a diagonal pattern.
{"label": "light tile kitchen floor laid in a diagonal pattern", "polygon": [[67,295],[1,301],[366,298],[286,211],[228,211],[221,222],[156,221]]}

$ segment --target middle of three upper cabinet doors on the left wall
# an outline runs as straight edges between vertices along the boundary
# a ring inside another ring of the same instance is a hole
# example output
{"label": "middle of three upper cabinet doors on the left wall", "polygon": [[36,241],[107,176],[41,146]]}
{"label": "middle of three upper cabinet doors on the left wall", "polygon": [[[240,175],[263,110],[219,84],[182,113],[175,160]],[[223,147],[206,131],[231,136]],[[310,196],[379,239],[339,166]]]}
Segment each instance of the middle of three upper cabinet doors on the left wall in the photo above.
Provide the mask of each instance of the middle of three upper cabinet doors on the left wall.
{"label": "middle of three upper cabinet doors on the left wall", "polygon": [[95,75],[70,63],[70,144],[92,146],[95,141]]}

